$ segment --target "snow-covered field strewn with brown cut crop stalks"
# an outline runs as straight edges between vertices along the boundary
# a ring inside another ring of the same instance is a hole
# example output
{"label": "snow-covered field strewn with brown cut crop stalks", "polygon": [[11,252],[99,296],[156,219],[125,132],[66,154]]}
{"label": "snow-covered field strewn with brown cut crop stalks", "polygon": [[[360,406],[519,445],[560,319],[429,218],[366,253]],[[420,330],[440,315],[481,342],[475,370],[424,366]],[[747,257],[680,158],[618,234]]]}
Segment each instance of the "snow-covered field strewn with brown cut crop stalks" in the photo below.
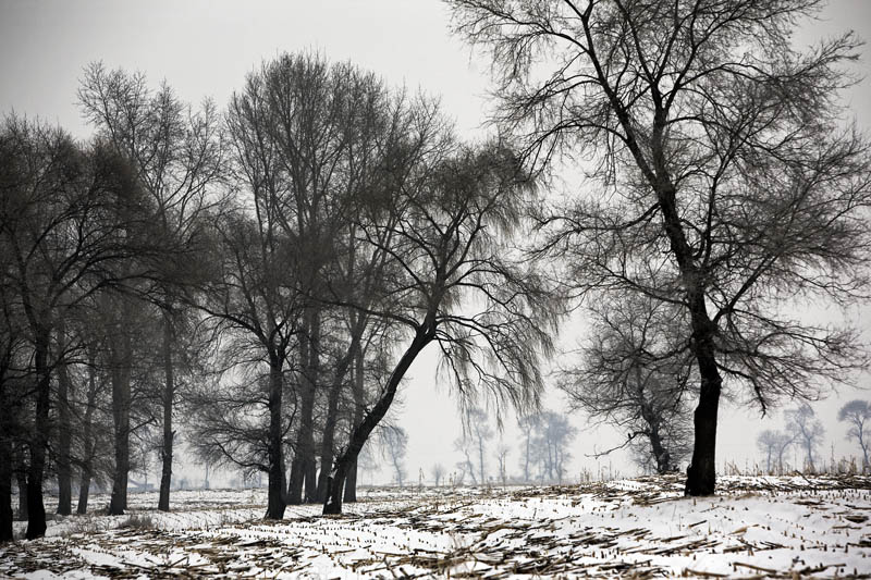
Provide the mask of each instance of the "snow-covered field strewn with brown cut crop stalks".
{"label": "snow-covered field strewn with brown cut crop stalks", "polygon": [[260,491],[175,493],[171,514],[140,494],[133,517],[73,516],[0,547],[0,577],[871,578],[871,478],[682,492],[673,478],[378,490],[343,516],[291,507],[280,522],[260,519]]}

